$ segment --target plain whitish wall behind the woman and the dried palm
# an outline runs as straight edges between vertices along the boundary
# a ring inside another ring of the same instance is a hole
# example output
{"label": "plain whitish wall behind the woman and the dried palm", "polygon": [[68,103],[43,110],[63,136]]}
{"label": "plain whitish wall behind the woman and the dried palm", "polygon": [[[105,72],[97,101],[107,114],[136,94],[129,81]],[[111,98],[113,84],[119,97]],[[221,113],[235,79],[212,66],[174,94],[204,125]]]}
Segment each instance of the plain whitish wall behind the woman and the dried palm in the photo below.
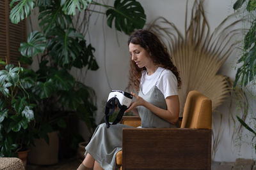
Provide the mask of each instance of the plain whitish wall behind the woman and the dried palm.
{"label": "plain whitish wall behind the woman and the dried palm", "polygon": [[[181,32],[184,32],[186,0],[139,1],[147,15],[147,23],[151,22],[156,17],[163,16],[173,22]],[[234,2],[234,0],[205,1],[204,9],[211,31],[213,31],[225,17],[233,13],[232,6]],[[193,3],[192,0],[189,1],[189,4],[191,3]],[[108,1],[108,4],[113,4],[113,0]],[[189,9],[191,9],[191,6]],[[96,19],[97,22],[94,22]],[[93,87],[96,91],[98,105],[97,122],[99,122],[104,116],[102,101],[107,99],[109,91],[111,89],[125,90],[127,87],[127,75],[129,70],[128,36],[120,32],[116,33],[115,29],[110,29],[106,25],[106,18],[102,21],[102,15],[98,16],[97,14],[93,14],[90,23],[90,43],[92,43],[96,49],[95,57],[97,58],[100,68],[98,71],[89,71],[84,83]],[[116,34],[118,35],[120,45],[116,43]],[[238,52],[234,52],[220,69],[220,74],[230,76],[232,80],[234,80],[236,74],[232,66],[234,66],[238,57],[237,53]],[[110,87],[106,74],[108,75]],[[231,139],[234,124],[230,119],[229,100],[230,99],[227,99],[227,102],[223,103],[223,105],[218,108],[218,113],[214,113],[213,115],[214,124],[216,124],[217,127],[213,128],[215,129],[214,131],[218,131],[220,114],[223,114],[220,144],[218,145],[214,160],[234,161],[237,157],[254,158],[255,153],[251,145]],[[239,111],[236,111],[236,103],[233,103],[231,112],[241,114]],[[244,132],[246,132],[246,130],[244,130]],[[248,132],[246,132],[246,136],[247,134]],[[243,136],[243,140],[250,143],[251,137],[246,136]]]}

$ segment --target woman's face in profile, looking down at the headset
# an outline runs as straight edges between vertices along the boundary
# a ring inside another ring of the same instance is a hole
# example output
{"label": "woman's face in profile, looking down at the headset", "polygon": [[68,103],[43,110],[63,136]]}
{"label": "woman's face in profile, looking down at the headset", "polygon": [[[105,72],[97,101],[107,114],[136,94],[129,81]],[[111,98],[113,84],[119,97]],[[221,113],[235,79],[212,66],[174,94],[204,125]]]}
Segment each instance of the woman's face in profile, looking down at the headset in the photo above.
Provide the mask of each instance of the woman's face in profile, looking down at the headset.
{"label": "woman's face in profile, looking down at the headset", "polygon": [[150,55],[143,47],[140,45],[134,45],[132,43],[129,44],[129,52],[131,55],[131,59],[137,64],[138,67],[146,67],[150,65],[152,60],[150,59]]}

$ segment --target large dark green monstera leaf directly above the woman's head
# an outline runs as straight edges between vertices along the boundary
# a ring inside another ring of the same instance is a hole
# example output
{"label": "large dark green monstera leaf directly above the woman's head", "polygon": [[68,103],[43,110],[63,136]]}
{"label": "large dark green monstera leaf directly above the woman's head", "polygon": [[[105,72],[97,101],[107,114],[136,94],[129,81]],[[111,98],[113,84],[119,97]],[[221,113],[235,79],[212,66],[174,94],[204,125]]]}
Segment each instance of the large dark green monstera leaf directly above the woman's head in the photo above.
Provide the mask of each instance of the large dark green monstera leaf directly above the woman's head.
{"label": "large dark green monstera leaf directly above the woman's head", "polygon": [[142,29],[146,22],[146,15],[140,3],[135,0],[116,0],[114,8],[106,11],[108,26],[112,27],[115,19],[115,28],[131,34],[134,29]]}

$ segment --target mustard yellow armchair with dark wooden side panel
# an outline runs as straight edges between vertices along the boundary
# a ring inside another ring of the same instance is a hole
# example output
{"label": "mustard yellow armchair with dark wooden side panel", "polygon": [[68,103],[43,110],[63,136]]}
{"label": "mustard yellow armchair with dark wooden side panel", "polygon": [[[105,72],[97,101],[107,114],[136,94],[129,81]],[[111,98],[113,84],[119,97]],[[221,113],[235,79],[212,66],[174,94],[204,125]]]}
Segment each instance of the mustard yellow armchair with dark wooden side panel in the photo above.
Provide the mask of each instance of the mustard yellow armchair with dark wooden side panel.
{"label": "mustard yellow armchair with dark wooden side panel", "polygon": [[[123,129],[120,169],[211,169],[211,100],[195,90],[186,99],[180,128]],[[123,124],[138,127],[139,117]]]}

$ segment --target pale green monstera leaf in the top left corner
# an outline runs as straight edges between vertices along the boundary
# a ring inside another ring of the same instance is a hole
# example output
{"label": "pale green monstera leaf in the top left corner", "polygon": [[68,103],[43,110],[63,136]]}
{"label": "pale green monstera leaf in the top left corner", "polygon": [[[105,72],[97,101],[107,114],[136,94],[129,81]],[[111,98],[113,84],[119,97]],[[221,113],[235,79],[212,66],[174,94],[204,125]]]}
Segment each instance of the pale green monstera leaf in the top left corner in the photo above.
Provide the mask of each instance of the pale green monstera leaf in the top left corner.
{"label": "pale green monstera leaf in the top left corner", "polygon": [[[19,3],[12,8],[12,5],[17,2]],[[30,10],[35,7],[35,2],[33,0],[12,0],[10,7],[12,8],[10,20],[12,23],[18,24],[20,20],[24,20],[25,17],[30,15]]]}

